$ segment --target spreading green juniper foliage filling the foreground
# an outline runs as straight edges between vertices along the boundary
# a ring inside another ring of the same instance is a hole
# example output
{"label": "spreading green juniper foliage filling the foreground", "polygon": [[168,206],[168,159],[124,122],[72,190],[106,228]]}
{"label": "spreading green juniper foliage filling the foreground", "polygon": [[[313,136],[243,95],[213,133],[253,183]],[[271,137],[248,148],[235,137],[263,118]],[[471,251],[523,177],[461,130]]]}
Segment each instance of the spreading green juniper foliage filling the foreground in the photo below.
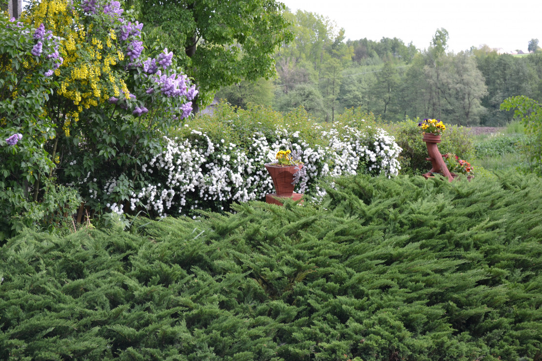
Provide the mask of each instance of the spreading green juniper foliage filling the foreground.
{"label": "spreading green juniper foliage filling the foreground", "polygon": [[0,248],[0,359],[539,360],[542,181],[343,178]]}

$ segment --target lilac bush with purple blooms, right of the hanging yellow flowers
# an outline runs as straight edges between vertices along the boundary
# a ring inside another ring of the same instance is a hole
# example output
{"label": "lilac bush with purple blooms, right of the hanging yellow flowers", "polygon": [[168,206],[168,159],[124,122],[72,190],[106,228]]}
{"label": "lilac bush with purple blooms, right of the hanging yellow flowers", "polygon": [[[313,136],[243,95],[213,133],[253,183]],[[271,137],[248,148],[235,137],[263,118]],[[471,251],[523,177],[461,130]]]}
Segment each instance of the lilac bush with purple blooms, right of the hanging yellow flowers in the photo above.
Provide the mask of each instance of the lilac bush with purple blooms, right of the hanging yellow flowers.
{"label": "lilac bush with purple blooms, right of the hanging yellow flowers", "polygon": [[[70,125],[70,133],[83,136],[78,142],[62,143],[60,179],[78,188],[95,211],[111,211],[113,205],[126,200],[126,189],[141,187],[145,178],[141,165],[163,151],[163,136],[171,127],[191,116],[191,101],[198,90],[177,67],[173,52],[146,52],[143,24],[122,12],[117,2],[84,1],[81,10],[111,24],[113,31],[107,36],[109,40],[116,38],[113,40],[124,55],[124,59],[119,56],[114,69],[124,72],[126,87],[108,93],[100,107],[83,111],[80,118],[87,121]],[[87,161],[81,161],[83,158]],[[116,181],[106,184],[110,178]]]}

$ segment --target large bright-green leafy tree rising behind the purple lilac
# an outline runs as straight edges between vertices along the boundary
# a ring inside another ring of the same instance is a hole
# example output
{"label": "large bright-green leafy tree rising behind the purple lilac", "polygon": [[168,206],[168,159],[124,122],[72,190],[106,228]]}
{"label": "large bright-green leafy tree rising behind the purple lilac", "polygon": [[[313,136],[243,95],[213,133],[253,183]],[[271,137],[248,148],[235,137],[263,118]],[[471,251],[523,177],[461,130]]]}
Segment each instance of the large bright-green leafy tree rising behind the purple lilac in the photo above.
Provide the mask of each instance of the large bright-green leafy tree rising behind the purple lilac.
{"label": "large bright-green leafy tree rising behind the purple lilac", "polygon": [[275,76],[276,47],[292,38],[275,0],[133,0],[149,43],[179,55],[199,94],[194,106],[209,104],[216,91],[242,80]]}

